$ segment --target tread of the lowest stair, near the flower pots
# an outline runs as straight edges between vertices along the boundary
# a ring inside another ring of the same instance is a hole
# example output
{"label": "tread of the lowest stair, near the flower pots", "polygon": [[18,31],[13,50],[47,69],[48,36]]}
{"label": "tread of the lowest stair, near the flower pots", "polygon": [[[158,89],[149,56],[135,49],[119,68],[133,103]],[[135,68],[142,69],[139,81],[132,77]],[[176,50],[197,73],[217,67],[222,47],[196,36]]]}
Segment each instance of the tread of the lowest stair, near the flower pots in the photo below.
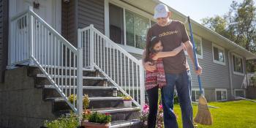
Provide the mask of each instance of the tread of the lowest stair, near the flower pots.
{"label": "tread of the lowest stair, near the flower pots", "polygon": [[131,127],[133,125],[140,125],[140,119],[132,119],[129,121],[112,121],[110,128]]}

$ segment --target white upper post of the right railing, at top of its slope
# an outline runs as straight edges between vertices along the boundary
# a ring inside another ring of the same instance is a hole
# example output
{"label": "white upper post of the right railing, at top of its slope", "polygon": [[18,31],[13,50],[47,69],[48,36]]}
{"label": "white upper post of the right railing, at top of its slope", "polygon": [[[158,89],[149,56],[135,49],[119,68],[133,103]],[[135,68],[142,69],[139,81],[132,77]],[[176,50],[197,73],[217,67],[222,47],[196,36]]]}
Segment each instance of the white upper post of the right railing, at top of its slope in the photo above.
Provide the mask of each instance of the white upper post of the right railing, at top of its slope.
{"label": "white upper post of the right railing, at top of its slope", "polygon": [[94,25],[90,25],[90,67],[94,69]]}

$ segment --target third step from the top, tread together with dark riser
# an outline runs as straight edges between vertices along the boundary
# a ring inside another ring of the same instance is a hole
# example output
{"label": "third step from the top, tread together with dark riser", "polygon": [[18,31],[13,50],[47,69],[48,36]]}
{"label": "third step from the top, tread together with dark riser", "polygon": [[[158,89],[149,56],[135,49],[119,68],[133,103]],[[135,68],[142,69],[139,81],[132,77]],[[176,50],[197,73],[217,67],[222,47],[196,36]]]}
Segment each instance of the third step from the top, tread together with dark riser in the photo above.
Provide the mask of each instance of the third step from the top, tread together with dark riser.
{"label": "third step from the top, tread together with dark riser", "polygon": [[[66,94],[66,91],[67,94],[69,94],[69,90],[71,91],[71,94],[73,94],[74,86],[59,86],[59,88],[64,91],[64,94]],[[116,97],[117,88],[113,86],[83,86],[83,94],[88,94],[89,97]],[[43,98],[46,99],[54,97],[61,97],[61,95],[56,91],[54,86],[45,85],[43,87]]]}

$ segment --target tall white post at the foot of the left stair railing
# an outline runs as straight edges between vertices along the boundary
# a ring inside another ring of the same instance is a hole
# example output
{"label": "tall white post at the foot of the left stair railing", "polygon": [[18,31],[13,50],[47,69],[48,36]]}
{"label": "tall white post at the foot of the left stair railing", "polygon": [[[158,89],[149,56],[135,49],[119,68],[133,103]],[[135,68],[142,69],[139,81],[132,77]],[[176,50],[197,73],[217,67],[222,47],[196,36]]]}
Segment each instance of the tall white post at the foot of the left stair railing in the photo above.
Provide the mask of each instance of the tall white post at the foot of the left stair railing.
{"label": "tall white post at the foot of the left stair railing", "polygon": [[83,48],[81,44],[81,31],[78,29],[78,116],[82,118],[83,113]]}

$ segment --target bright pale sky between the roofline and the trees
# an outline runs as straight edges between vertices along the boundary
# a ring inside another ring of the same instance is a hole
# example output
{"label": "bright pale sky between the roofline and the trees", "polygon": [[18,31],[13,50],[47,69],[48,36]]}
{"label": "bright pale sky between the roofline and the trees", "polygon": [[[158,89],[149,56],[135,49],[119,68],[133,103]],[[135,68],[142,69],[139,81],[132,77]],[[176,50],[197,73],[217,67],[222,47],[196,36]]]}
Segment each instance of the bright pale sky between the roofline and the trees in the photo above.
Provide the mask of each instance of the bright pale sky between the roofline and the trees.
{"label": "bright pale sky between the roofline and the trees", "polygon": [[[202,23],[200,19],[224,15],[233,0],[160,0],[190,18]],[[241,3],[243,0],[236,0]],[[256,0],[254,0],[256,3]]]}

